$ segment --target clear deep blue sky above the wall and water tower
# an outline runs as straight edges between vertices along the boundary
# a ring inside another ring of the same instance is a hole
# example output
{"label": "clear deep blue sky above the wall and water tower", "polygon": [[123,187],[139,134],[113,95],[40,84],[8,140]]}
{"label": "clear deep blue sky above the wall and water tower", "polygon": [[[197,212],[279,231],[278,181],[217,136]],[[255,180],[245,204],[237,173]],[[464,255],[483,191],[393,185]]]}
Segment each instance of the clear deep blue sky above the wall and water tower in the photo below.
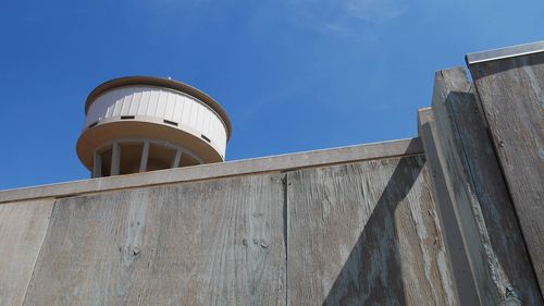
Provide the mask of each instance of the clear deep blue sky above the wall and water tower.
{"label": "clear deep blue sky above the wall and water tower", "polygon": [[542,40],[544,1],[0,2],[0,189],[82,180],[84,101],[171,76],[228,112],[227,159],[417,135],[436,70]]}

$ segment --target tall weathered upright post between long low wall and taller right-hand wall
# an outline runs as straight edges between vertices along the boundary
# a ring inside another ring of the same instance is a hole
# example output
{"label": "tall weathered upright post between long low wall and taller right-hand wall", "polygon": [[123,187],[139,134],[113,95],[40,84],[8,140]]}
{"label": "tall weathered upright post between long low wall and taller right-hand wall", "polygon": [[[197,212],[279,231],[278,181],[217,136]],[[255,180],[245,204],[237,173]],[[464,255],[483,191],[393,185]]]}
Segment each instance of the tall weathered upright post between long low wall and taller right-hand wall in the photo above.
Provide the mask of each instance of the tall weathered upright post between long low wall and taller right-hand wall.
{"label": "tall weathered upright post between long low wall and taller right-hand wall", "polygon": [[462,272],[456,277],[459,296],[467,298],[477,290],[481,305],[514,299],[542,305],[485,123],[465,70],[438,71],[433,109],[420,111],[420,137],[433,172],[437,208],[453,205],[454,213],[444,216],[443,221],[456,219],[462,234],[460,243],[448,243],[450,254],[466,248],[455,255],[454,266],[462,268],[459,260],[468,256],[469,265],[465,266],[470,266],[466,270],[472,281]]}

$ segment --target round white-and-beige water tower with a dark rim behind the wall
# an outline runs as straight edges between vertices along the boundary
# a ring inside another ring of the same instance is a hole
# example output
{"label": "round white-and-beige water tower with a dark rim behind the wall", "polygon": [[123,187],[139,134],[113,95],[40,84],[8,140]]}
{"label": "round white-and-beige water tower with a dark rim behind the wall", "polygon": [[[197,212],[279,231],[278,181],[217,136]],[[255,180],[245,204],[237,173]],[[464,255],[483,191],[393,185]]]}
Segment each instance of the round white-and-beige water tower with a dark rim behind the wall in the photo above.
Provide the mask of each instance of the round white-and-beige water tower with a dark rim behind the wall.
{"label": "round white-and-beige water tower with a dark rim behind the wall", "polygon": [[92,178],[221,162],[231,122],[210,96],[170,78],[128,76],[85,102],[77,156]]}

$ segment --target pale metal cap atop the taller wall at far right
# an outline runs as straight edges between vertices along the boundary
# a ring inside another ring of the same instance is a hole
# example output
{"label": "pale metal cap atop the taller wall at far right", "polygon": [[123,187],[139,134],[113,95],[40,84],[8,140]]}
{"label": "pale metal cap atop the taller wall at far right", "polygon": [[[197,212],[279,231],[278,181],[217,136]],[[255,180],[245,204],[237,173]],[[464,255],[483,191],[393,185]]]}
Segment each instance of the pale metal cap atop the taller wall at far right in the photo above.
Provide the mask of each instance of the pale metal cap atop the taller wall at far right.
{"label": "pale metal cap atop the taller wall at far right", "polygon": [[467,65],[477,64],[481,62],[496,61],[507,58],[516,58],[532,53],[540,53],[544,51],[544,40],[510,46],[499,49],[486,50],[481,52],[468,53],[465,57]]}

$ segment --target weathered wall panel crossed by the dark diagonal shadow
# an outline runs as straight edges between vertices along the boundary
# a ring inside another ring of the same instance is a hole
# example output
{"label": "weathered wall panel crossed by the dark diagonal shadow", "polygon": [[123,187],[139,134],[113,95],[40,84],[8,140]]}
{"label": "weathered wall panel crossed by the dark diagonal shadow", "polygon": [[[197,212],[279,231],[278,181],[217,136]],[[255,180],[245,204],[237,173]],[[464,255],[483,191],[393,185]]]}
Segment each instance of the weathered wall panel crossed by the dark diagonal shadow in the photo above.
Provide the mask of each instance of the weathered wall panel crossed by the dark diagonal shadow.
{"label": "weathered wall panel crossed by the dark diagonal shadow", "polygon": [[288,172],[288,305],[459,305],[424,163]]}

